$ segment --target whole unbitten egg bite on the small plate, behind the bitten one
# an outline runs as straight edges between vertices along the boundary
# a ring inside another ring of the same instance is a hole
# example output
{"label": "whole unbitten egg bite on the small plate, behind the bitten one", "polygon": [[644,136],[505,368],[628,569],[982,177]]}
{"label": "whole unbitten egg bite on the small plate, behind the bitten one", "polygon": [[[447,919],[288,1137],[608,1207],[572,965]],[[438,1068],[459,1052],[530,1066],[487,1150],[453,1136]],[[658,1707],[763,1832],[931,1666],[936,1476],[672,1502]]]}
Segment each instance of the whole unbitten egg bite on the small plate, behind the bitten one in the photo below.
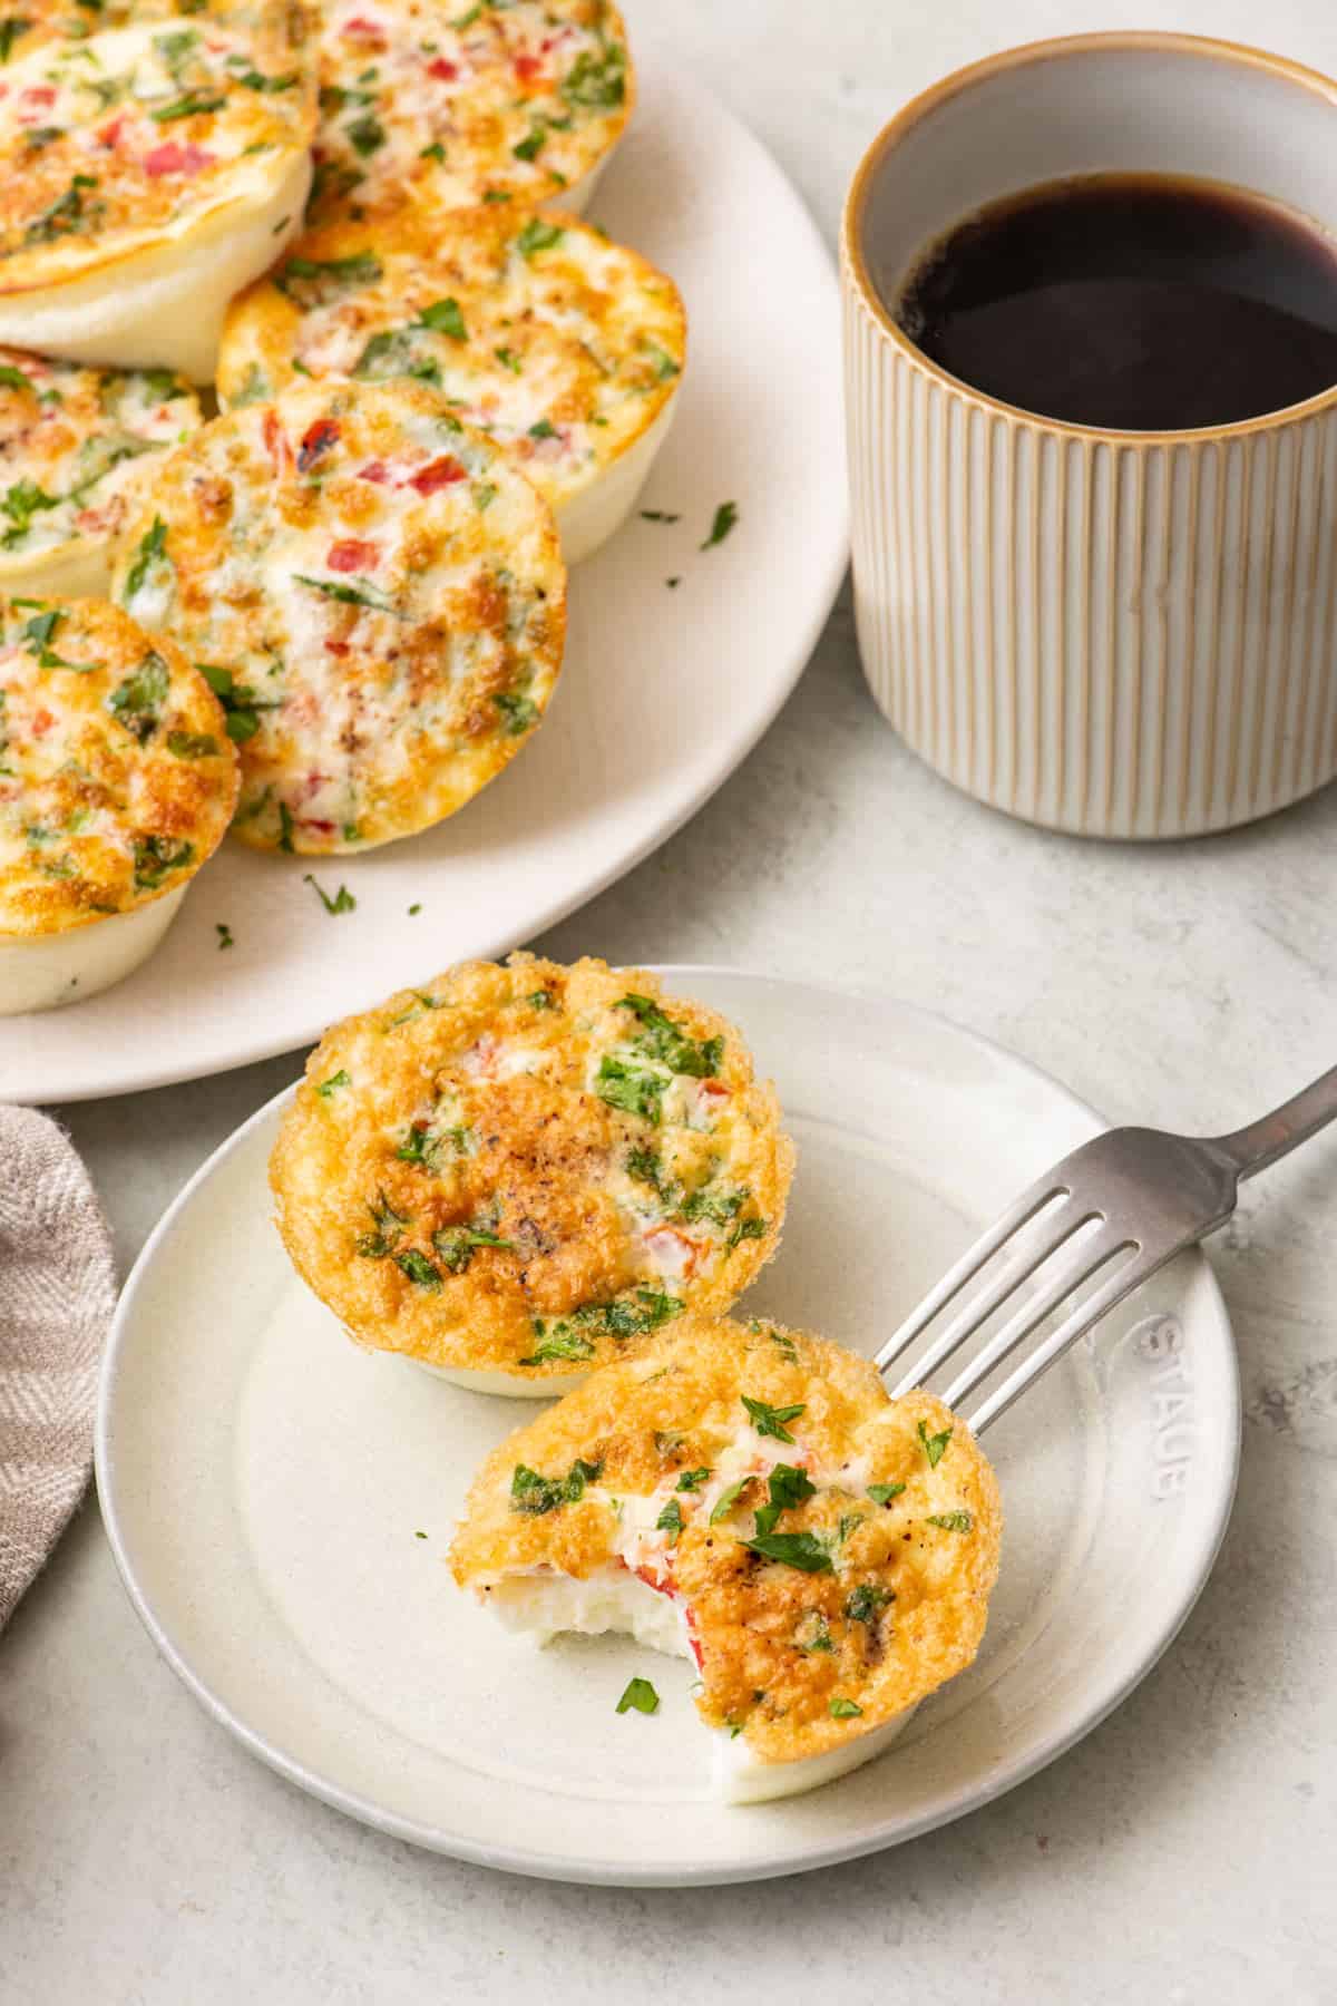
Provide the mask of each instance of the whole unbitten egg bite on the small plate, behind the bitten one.
{"label": "whole unbitten egg bite on the small plate, behind the bitten one", "polygon": [[329,1031],[271,1159],[289,1256],[349,1336],[519,1396],[728,1308],[792,1174],[732,1023],[641,969],[531,955]]}

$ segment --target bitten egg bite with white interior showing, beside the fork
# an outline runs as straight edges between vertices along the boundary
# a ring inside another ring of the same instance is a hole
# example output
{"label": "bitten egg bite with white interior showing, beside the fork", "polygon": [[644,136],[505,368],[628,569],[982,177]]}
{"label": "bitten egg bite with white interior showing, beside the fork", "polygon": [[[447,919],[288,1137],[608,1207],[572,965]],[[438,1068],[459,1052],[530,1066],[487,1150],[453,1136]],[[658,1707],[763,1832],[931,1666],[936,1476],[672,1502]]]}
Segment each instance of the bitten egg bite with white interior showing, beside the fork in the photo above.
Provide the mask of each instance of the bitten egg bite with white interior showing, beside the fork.
{"label": "bitten egg bite with white interior showing, beside the fork", "polygon": [[732,1803],[878,1755],[974,1659],[998,1484],[932,1394],[826,1338],[684,1316],[501,1442],[449,1565],[513,1629],[692,1657]]}

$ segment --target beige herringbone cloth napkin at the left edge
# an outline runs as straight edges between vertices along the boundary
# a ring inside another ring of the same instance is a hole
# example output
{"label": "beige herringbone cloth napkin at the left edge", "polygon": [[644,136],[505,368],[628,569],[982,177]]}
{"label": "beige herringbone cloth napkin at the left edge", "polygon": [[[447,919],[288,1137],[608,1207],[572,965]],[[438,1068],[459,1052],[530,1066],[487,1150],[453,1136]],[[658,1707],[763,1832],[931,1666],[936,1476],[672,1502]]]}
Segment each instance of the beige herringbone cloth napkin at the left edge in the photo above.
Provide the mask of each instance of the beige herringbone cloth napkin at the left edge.
{"label": "beige herringbone cloth napkin at the left edge", "polygon": [[68,1137],[0,1107],[0,1629],[92,1466],[112,1236]]}

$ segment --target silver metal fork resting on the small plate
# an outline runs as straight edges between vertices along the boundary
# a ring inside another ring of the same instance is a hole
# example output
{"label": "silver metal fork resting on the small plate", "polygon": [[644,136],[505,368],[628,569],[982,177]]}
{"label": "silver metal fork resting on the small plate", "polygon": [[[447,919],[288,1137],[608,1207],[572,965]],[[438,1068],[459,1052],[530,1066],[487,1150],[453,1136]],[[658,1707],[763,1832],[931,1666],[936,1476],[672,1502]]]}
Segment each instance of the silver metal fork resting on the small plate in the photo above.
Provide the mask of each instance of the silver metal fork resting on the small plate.
{"label": "silver metal fork resting on the small plate", "polygon": [[[1193,1137],[1125,1127],[1072,1149],[1008,1206],[882,1346],[876,1364],[886,1372],[978,1282],[918,1364],[892,1386],[892,1398],[924,1386],[1038,1276],[1020,1306],[942,1394],[956,1408],[1076,1290],[1102,1278],[966,1416],[972,1432],[982,1434],[1125,1296],[1185,1248],[1225,1226],[1235,1212],[1243,1178],[1289,1155],[1335,1117],[1337,1065],[1271,1115],[1233,1135]],[[1034,1234],[1026,1234],[1032,1224]]]}

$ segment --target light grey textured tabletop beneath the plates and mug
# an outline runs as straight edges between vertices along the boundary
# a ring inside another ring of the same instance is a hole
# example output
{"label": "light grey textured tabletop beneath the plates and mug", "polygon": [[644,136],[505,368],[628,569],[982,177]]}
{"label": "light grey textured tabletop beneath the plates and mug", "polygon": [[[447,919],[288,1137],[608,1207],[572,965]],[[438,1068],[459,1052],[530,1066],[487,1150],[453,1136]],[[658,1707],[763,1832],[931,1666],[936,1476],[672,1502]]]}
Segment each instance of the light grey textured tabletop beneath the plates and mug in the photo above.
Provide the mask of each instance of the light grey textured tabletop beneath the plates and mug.
{"label": "light grey textured tabletop beneath the plates and mug", "polygon": [[[665,10],[631,0],[633,26]],[[676,0],[661,32],[834,235],[876,124],[936,72],[1068,28],[1267,38],[1337,68],[1329,0]],[[740,367],[756,365],[740,357]],[[1205,845],[1094,849],[950,794],[876,718],[842,602],[770,736],[667,849],[543,943],[822,969],[958,1017],[1112,1117],[1227,1127],[1337,1049],[1337,790]],[[70,1109],[122,1262],[295,1071]],[[878,1860],[756,1890],[527,1884],[347,1823],[241,1753],[140,1633],[88,1504],[0,1647],[0,1996],[42,2006],[535,1998],[1337,1996],[1337,1139],[1219,1248],[1241,1496],[1179,1643],[1080,1749]]]}

